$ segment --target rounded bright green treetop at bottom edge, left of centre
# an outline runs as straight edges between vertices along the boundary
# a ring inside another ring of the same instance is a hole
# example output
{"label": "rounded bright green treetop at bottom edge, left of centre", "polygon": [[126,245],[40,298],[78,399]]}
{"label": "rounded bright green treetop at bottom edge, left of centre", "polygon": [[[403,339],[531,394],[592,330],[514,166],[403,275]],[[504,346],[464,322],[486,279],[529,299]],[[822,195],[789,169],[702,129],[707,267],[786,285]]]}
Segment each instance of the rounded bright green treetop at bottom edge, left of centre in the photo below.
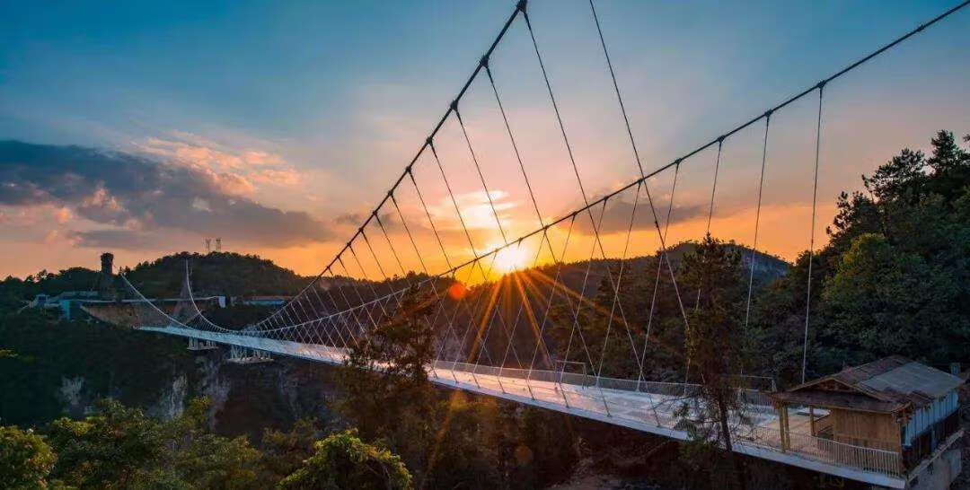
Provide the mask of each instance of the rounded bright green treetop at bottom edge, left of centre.
{"label": "rounded bright green treetop at bottom edge, left of centre", "polygon": [[401,457],[362,442],[355,431],[334,434],[315,444],[303,468],[283,478],[279,488],[340,490],[410,489],[411,475]]}

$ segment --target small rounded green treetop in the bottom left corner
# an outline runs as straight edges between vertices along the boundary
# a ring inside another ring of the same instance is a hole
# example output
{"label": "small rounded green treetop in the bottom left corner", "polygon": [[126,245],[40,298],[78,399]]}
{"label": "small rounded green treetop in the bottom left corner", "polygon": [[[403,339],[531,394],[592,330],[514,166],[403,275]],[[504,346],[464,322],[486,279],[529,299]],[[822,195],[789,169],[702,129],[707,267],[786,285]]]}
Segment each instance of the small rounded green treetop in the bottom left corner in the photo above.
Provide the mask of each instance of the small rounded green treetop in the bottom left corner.
{"label": "small rounded green treetop in the bottom left corner", "polygon": [[33,431],[0,426],[0,482],[5,488],[47,488],[56,459],[44,438]]}

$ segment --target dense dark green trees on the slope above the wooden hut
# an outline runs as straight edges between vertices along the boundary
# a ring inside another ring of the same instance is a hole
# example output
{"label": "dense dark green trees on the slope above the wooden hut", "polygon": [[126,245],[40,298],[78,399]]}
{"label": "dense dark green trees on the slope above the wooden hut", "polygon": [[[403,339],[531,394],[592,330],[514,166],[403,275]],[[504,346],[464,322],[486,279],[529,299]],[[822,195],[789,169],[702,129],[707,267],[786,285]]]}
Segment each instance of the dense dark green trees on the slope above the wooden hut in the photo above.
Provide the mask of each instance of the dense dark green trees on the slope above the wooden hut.
{"label": "dense dark green trees on the slope above the wooden hut", "polygon": [[970,153],[946,131],[930,146],[863,176],[868,196],[839,199],[813,310],[816,372],[891,353],[970,360]]}

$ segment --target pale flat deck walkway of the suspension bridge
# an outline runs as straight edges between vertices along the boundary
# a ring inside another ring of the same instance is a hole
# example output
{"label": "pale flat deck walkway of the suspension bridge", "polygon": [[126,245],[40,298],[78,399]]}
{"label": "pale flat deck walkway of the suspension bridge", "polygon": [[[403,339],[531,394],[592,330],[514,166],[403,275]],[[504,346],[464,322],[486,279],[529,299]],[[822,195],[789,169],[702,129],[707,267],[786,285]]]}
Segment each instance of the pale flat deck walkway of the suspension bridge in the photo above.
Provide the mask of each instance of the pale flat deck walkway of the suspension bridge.
{"label": "pale flat deck walkway of the suspension bridge", "polygon": [[[343,364],[347,357],[346,351],[339,348],[243,334],[168,325],[139,329],[331,365]],[[602,378],[597,385],[592,376],[448,361],[436,361],[428,372],[430,381],[439,385],[677,440],[689,438],[676,411],[684,403],[690,406],[691,391],[696,386],[693,384]],[[739,391],[738,396],[743,397],[745,409],[732,417],[736,452],[889,488],[906,486],[899,453],[812,437],[807,427],[797,425],[792,426],[790,444],[783,447],[778,413],[767,404],[766,397],[754,390]]]}

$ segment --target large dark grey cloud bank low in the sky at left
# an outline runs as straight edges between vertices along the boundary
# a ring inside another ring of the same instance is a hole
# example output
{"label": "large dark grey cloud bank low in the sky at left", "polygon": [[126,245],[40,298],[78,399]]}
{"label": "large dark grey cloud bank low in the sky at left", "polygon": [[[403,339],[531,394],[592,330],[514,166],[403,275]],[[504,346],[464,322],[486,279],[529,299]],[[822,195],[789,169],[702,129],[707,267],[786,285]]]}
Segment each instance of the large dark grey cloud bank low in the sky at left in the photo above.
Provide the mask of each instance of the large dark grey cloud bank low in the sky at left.
{"label": "large dark grey cloud bank low in the sky at left", "polygon": [[[0,141],[0,205],[50,204],[127,232],[182,230],[263,246],[326,241],[329,227],[306,212],[262,205],[218,174],[116,151]],[[109,245],[121,234],[78,232]],[[84,234],[88,233],[88,234]],[[129,240],[130,241],[130,240]]]}

